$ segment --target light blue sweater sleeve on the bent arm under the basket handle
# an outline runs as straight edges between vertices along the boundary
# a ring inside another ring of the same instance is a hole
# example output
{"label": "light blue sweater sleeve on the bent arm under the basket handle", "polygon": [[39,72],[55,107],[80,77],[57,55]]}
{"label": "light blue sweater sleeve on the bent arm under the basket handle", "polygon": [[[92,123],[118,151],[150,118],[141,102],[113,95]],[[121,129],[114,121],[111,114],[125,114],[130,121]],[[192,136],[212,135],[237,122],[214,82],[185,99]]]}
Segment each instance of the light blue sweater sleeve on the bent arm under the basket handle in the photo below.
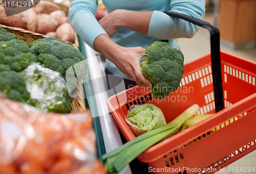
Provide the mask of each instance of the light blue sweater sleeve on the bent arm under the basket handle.
{"label": "light blue sweater sleeve on the bent arm under the basket handle", "polygon": [[[171,0],[170,12],[177,12],[203,20],[205,0]],[[191,38],[198,26],[177,17],[170,17],[161,11],[154,11],[148,28],[148,36],[157,39]]]}

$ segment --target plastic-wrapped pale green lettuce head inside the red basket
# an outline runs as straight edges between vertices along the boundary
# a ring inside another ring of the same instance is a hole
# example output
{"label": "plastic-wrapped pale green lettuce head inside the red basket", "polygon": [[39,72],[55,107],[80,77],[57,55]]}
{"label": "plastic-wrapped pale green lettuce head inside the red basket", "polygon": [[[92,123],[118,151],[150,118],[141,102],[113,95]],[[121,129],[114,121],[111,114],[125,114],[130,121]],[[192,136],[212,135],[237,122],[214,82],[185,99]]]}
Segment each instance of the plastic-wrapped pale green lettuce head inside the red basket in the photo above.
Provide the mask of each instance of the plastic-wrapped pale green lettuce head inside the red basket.
{"label": "plastic-wrapped pale green lettuce head inside the red basket", "polygon": [[166,125],[162,111],[153,104],[131,106],[125,120],[135,136]]}

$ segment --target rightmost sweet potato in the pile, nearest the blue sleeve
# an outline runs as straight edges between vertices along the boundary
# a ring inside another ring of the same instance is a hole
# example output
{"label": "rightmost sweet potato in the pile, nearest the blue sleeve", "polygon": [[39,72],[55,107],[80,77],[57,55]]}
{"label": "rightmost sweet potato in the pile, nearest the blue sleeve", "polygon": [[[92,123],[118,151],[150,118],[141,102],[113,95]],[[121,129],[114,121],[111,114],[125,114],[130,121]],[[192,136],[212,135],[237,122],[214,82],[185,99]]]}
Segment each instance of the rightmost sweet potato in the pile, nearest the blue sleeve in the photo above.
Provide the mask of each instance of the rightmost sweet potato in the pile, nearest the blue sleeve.
{"label": "rightmost sweet potato in the pile, nearest the blue sleeve", "polygon": [[75,30],[71,27],[70,23],[63,23],[56,30],[57,38],[74,42],[75,41]]}

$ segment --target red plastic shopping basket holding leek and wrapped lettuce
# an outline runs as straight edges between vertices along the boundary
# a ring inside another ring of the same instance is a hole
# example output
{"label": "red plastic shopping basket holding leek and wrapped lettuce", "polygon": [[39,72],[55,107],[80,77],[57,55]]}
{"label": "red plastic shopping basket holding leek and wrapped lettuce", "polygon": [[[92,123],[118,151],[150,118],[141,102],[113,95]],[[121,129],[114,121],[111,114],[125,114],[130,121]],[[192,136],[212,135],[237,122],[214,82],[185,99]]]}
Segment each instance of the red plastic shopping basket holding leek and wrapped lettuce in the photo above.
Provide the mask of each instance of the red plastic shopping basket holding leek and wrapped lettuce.
{"label": "red plastic shopping basket holding leek and wrapped lettuce", "polygon": [[152,98],[148,88],[135,86],[108,100],[127,141],[135,138],[124,118],[132,105],[154,104],[166,122],[193,104],[200,106],[197,114],[215,113],[138,156],[154,173],[215,173],[256,149],[256,63],[218,51],[214,37],[219,35],[211,33],[211,54],[185,64],[180,87],[166,98]]}

